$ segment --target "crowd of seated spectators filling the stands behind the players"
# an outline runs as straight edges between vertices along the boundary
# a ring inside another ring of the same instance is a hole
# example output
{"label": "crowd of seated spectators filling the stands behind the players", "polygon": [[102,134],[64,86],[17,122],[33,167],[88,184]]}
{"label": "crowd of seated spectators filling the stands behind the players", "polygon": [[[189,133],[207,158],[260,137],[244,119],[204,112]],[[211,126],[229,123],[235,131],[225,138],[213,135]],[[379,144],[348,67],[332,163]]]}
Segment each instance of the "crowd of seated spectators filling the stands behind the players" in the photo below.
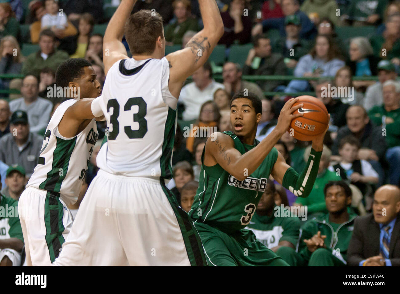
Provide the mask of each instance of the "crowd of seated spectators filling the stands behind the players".
{"label": "crowd of seated spectators filling the stands behind the players", "polygon": [[[119,1],[26,2],[0,1],[1,194],[16,201],[61,102],[48,89],[58,65],[68,58],[85,58],[104,84],[103,34],[95,28],[107,23],[106,8]],[[331,115],[314,188],[308,198],[300,198],[271,178],[249,228],[290,265],[400,265],[400,1],[216,2],[225,29],[219,42],[223,62],[210,58],[194,72],[178,102],[168,188],[182,209],[188,212],[196,195],[206,137],[232,131],[234,93],[247,90],[262,99],[256,131],[256,139],[262,140],[274,129],[284,102],[307,92]],[[160,13],[168,48],[184,48],[202,29],[197,0],[138,1],[132,13],[140,9]],[[25,25],[26,36],[21,29]],[[343,28],[364,33],[342,38],[337,32]],[[23,56],[29,46],[36,51]],[[247,48],[238,56],[242,62],[230,58],[238,47]],[[327,89],[334,88],[337,94],[327,95]],[[98,130],[101,142],[104,122],[98,122]],[[98,171],[100,142],[78,202]],[[290,166],[302,171],[310,142],[297,141],[288,131],[275,147]],[[275,217],[281,205],[292,212],[307,208],[308,221]],[[76,213],[78,207],[70,209]],[[382,208],[385,216],[379,213]],[[368,235],[371,226],[373,234]]]}

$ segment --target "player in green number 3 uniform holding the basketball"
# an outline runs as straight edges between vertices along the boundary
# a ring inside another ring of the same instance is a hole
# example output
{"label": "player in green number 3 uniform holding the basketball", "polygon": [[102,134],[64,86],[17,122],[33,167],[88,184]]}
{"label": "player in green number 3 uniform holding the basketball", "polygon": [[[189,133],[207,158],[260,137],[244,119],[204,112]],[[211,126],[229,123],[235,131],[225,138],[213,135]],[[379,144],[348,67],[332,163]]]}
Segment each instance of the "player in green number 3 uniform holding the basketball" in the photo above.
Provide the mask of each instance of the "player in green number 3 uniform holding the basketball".
{"label": "player in green number 3 uniform holding the basketball", "polygon": [[230,103],[234,132],[214,133],[208,138],[199,187],[189,211],[208,265],[288,265],[244,227],[250,223],[270,175],[296,196],[307,197],[312,190],[326,131],[312,141],[310,157],[300,175],[274,148],[292,119],[303,115],[298,111],[303,104],[293,106],[297,101],[292,98],[284,105],[275,129],[260,142],[255,137],[261,100],[250,92],[236,93]]}

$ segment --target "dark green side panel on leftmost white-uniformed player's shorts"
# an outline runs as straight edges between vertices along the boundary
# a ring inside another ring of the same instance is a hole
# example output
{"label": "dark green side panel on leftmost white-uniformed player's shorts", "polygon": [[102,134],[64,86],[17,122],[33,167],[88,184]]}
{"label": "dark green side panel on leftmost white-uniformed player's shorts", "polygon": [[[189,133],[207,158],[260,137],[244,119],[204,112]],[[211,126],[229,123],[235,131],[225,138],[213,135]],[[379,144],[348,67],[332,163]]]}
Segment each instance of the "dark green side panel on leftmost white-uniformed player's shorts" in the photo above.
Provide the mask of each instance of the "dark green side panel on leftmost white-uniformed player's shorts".
{"label": "dark green side panel on leftmost white-uniformed player's shorts", "polygon": [[62,218],[64,217],[64,206],[60,202],[59,197],[54,197],[47,192],[46,201],[44,203],[44,223],[46,225],[46,244],[49,250],[50,260],[54,260],[60,254],[62,244],[65,239],[62,236],[64,232],[64,224]]}

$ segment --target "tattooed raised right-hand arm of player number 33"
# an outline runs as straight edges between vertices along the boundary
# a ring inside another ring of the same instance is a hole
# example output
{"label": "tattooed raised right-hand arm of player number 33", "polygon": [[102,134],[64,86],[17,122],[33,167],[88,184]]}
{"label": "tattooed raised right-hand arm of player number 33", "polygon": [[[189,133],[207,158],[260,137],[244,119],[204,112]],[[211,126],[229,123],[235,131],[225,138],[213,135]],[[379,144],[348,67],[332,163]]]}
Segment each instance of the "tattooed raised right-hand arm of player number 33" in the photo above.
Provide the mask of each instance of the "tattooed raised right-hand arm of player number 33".
{"label": "tattooed raised right-hand arm of player number 33", "polygon": [[198,70],[208,59],[224,34],[224,24],[215,0],[199,0],[204,28],[186,45],[186,48],[166,56],[170,63],[169,88],[179,96],[184,80]]}

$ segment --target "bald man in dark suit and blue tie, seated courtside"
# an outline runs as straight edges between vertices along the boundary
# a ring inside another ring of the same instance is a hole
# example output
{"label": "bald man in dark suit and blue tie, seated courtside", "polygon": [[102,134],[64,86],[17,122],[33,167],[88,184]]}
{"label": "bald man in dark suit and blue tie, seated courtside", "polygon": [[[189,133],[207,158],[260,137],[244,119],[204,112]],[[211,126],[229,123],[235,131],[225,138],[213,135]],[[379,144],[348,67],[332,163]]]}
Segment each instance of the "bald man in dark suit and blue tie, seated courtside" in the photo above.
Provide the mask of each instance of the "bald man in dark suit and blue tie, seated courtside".
{"label": "bald man in dark suit and blue tie, seated courtside", "polygon": [[348,247],[350,266],[400,266],[400,189],[376,190],[373,213],[354,222]]}

